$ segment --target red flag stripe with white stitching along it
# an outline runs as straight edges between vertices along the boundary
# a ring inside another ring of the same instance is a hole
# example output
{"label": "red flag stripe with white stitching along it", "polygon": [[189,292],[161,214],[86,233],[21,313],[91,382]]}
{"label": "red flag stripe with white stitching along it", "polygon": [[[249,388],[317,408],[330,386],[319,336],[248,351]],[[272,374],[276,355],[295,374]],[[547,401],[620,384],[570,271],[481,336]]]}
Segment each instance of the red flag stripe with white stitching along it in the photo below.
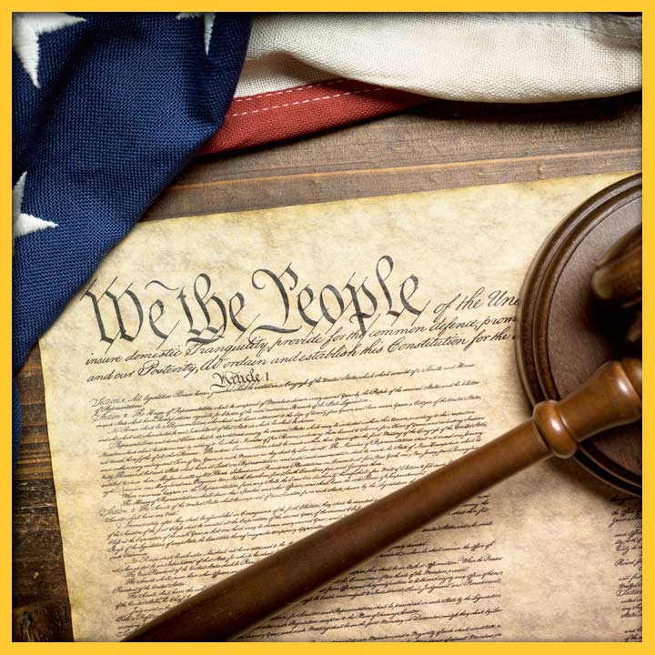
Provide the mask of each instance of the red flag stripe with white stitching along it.
{"label": "red flag stripe with white stitching along it", "polygon": [[384,116],[427,100],[425,96],[347,79],[237,97],[227,111],[223,126],[199,154],[305,136]]}

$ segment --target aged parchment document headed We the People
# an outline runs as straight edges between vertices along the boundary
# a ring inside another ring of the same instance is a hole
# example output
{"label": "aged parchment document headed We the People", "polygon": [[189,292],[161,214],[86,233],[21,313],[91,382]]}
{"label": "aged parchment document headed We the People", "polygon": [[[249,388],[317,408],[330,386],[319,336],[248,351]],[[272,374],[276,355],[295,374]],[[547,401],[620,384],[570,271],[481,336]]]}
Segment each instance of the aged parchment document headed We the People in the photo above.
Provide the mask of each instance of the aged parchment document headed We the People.
{"label": "aged parchment document headed We the People", "polygon": [[[622,177],[136,226],[41,341],[77,640],[212,582],[529,416],[542,240]],[[640,640],[640,502],[544,462],[244,640]]]}

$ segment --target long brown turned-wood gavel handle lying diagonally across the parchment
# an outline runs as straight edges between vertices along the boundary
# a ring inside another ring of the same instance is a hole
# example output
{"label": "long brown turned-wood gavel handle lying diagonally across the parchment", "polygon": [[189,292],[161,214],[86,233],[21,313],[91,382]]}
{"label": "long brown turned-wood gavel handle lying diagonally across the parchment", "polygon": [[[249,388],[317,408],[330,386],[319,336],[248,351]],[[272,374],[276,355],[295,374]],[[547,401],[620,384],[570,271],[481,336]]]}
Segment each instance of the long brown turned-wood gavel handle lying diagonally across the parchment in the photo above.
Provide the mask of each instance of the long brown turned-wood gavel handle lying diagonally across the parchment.
{"label": "long brown turned-wood gavel handle lying diagonally across the parchment", "polygon": [[126,641],[227,641],[502,479],[641,417],[641,362],[612,361],[567,398],[424,478],[184,601]]}

